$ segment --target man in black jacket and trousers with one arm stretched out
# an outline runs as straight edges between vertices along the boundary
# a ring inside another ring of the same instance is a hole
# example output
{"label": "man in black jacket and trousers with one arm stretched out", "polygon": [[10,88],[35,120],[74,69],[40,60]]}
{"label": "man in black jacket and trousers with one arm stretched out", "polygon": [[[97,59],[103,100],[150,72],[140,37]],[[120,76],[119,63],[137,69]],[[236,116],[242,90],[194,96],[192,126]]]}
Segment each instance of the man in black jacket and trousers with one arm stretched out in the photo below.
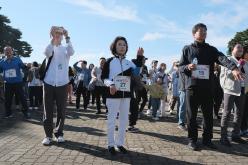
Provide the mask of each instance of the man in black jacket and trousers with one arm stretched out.
{"label": "man in black jacket and trousers with one arm stretched out", "polygon": [[237,66],[215,47],[205,43],[207,36],[206,25],[199,23],[192,29],[194,43],[183,48],[180,61],[180,70],[185,75],[186,109],[188,126],[188,147],[197,150],[197,111],[201,106],[203,113],[203,138],[204,146],[216,149],[212,143],[213,137],[213,77],[214,63],[223,65],[230,70],[235,79],[242,79]]}

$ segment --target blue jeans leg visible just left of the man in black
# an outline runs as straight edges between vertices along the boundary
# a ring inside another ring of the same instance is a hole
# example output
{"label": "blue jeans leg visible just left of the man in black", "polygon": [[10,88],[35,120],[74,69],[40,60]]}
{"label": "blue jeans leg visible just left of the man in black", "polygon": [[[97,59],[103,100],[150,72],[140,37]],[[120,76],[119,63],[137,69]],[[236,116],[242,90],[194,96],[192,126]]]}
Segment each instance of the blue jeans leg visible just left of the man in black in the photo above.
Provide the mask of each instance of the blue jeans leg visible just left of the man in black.
{"label": "blue jeans leg visible just left of the man in black", "polygon": [[179,91],[179,112],[178,112],[178,124],[184,125],[185,124],[185,113],[186,113],[186,106],[185,106],[185,91]]}

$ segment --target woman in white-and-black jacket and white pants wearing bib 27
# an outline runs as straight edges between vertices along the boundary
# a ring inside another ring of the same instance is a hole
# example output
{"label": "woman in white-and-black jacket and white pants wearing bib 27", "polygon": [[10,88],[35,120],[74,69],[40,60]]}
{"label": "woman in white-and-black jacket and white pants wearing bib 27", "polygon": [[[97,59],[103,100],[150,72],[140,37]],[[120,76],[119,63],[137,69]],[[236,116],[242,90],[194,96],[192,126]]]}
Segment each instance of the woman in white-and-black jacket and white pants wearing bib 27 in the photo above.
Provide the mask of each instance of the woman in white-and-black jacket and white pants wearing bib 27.
{"label": "woman in white-and-black jacket and white pants wearing bib 27", "polygon": [[[132,94],[131,76],[138,75],[142,65],[143,55],[137,56],[138,63],[127,60],[127,40],[124,37],[116,37],[110,46],[114,57],[108,59],[103,66],[101,78],[107,86],[106,105],[108,107],[108,150],[111,155],[116,154],[115,146],[122,153],[127,153],[123,147],[125,141],[126,126]],[[115,139],[115,121],[119,112],[118,137]]]}

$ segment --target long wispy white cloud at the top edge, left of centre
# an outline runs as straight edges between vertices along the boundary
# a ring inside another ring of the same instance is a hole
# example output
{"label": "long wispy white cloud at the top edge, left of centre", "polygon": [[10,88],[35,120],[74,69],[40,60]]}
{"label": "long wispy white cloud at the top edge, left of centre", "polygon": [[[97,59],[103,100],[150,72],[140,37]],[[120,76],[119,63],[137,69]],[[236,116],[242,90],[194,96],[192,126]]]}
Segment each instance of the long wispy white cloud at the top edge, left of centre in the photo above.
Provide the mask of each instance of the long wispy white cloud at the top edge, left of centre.
{"label": "long wispy white cloud at the top edge, left of centre", "polygon": [[65,1],[74,5],[84,7],[87,9],[87,12],[91,14],[109,17],[116,20],[141,22],[141,19],[137,16],[137,10],[128,6],[120,6],[115,1],[105,1],[106,3],[100,2],[98,0]]}

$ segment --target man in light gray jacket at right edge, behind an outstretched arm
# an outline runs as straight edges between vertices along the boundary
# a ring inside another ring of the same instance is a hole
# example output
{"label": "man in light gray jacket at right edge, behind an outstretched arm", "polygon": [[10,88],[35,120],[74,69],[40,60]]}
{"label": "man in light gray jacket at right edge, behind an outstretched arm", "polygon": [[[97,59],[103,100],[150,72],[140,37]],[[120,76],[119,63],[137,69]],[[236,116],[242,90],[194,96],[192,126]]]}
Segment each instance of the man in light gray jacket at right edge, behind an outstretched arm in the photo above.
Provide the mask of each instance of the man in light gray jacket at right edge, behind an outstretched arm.
{"label": "man in light gray jacket at right edge, behind an outstretched arm", "polygon": [[[241,72],[248,76],[248,68],[245,65],[245,61],[241,58],[243,55],[243,46],[239,43],[234,45],[232,49],[232,56],[229,59],[239,66]],[[247,74],[245,73],[247,72]],[[220,84],[224,91],[224,110],[221,116],[221,138],[220,142],[222,145],[231,146],[228,140],[228,122],[231,115],[231,110],[235,105],[233,130],[231,139],[237,143],[246,143],[240,137],[240,126],[243,117],[244,105],[245,105],[245,83],[244,80],[235,80],[232,76],[230,69],[221,67]]]}

